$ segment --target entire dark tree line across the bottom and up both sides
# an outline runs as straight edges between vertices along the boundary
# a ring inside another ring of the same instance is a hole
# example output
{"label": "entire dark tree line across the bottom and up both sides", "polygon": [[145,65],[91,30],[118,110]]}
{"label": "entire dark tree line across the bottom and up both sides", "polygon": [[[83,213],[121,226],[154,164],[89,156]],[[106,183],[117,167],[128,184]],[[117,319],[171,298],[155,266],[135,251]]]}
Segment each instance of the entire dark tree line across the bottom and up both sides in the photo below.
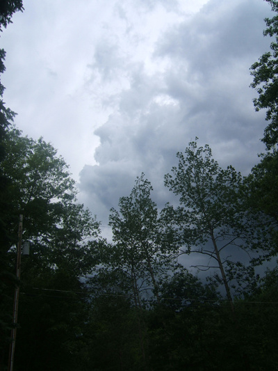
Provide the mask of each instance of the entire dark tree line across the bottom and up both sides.
{"label": "entire dark tree line across the bottom and up both sides", "polygon": [[[243,177],[196,138],[164,177],[177,205],[158,210],[142,173],[111,209],[111,243],[77,202],[63,157],[23,136],[1,100],[1,370],[15,326],[14,370],[277,369],[278,1],[266,1],[275,16],[265,35],[275,41],[250,68],[254,106],[268,122],[259,163]],[[7,0],[0,10],[5,28],[24,8]],[[20,281],[19,214],[31,245]],[[181,264],[192,254],[206,279]]]}

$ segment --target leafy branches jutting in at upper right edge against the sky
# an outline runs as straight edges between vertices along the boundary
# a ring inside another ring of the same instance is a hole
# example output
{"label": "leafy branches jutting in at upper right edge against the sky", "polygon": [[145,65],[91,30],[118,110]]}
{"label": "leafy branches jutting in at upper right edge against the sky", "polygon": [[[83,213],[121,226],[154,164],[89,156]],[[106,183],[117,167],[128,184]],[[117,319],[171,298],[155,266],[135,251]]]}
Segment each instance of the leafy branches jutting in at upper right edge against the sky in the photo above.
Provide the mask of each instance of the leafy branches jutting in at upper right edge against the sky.
{"label": "leafy branches jutting in at upper right edge against the sky", "polygon": [[[277,0],[265,0],[270,3],[273,11],[278,12]],[[251,84],[256,89],[259,97],[253,100],[256,111],[266,109],[265,119],[269,121],[263,136],[263,143],[270,150],[278,143],[278,15],[265,18],[268,26],[263,35],[275,36],[275,41],[270,43],[271,52],[263,54],[259,61],[254,63],[250,70],[254,76]]]}

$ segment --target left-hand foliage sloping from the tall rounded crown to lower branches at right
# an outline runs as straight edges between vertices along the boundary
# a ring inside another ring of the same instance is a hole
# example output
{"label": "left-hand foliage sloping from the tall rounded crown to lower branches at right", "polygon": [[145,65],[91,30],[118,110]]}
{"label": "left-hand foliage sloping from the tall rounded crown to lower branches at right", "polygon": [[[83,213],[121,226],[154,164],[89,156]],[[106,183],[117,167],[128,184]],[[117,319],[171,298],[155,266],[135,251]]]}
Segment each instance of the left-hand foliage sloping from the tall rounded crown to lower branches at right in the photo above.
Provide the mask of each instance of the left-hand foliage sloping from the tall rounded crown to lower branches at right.
{"label": "left-hand foliage sloping from the tall rounded crown to lower branches at right", "polygon": [[62,157],[51,144],[29,139],[14,127],[6,138],[8,155],[3,173],[11,181],[6,197],[12,207],[7,211],[10,235],[19,214],[24,216],[23,238],[34,244],[67,247],[85,244],[96,237],[99,223],[83,205],[77,205],[74,180]]}

